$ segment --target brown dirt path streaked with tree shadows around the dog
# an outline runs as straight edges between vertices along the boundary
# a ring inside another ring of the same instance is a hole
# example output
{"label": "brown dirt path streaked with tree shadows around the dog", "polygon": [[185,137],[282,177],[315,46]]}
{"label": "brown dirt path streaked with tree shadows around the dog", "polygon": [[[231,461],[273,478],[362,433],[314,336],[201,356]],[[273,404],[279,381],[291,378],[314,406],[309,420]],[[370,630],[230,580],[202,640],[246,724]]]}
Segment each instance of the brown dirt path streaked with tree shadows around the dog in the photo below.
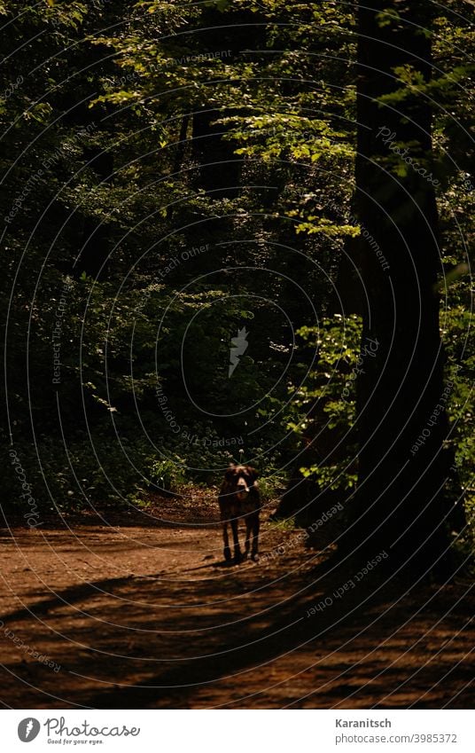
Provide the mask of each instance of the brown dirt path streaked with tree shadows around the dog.
{"label": "brown dirt path streaked with tree shadows around the dog", "polygon": [[0,529],[4,707],[473,705],[471,584],[355,583],[269,522],[226,567],[213,498],[153,510]]}

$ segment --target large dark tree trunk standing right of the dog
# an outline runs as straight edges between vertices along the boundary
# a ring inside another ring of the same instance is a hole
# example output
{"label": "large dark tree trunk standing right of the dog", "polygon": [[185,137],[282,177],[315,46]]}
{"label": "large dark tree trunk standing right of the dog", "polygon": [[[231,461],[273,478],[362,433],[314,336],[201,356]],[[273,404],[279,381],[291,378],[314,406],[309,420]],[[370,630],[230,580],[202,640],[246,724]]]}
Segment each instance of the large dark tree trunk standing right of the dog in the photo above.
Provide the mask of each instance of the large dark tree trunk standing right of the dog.
{"label": "large dark tree trunk standing right of the dog", "polygon": [[[429,79],[430,36],[421,30],[429,12],[398,0],[358,8],[356,208],[369,304],[363,347],[367,338],[375,344],[358,382],[359,484],[347,541],[385,549],[417,571],[444,560],[453,516],[445,492],[450,387],[444,392],[435,290],[431,109],[394,72],[410,65]],[[381,105],[381,95],[395,90],[406,96]]]}

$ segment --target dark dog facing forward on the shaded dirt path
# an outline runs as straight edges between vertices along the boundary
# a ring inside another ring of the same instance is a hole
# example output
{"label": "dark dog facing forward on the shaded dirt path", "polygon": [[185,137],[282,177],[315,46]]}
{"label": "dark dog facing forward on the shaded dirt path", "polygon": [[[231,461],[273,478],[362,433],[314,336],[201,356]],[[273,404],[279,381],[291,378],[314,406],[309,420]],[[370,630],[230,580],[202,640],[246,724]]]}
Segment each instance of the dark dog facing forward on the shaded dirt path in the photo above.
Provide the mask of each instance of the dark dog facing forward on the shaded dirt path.
{"label": "dark dog facing forward on the shaded dirt path", "polygon": [[[251,466],[237,466],[233,463],[224,474],[224,480],[218,496],[222,522],[222,538],[224,543],[224,559],[229,562],[231,557],[228,524],[232,530],[234,545],[234,561],[240,562],[243,554],[239,547],[238,523],[245,518],[245,558],[256,561],[259,557],[259,514],[261,512],[261,496],[257,488],[258,473]],[[251,545],[251,535],[253,542]]]}

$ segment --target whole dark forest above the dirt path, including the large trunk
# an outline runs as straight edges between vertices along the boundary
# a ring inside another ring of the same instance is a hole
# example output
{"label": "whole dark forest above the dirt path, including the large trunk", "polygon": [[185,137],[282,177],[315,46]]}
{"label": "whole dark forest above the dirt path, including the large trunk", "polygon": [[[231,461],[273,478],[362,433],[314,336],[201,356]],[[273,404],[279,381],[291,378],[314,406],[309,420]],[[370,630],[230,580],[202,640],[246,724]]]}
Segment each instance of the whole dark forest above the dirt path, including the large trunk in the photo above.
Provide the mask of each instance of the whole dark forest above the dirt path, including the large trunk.
{"label": "whole dark forest above the dirt path, including the large trunk", "polygon": [[284,517],[466,551],[471,4],[0,14],[5,509],[146,506],[242,459]]}

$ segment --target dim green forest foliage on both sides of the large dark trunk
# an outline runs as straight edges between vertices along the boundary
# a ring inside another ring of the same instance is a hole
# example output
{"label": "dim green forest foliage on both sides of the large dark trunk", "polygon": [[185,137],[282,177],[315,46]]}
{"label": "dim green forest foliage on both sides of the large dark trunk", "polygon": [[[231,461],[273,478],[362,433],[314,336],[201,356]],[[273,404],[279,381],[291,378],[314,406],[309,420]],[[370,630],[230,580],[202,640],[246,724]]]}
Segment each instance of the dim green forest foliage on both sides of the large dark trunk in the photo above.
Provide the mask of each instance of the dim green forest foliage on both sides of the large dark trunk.
{"label": "dim green forest foliage on both sides of the large dark trunk", "polygon": [[[475,216],[471,122],[460,125],[473,28],[454,8],[433,20],[440,76],[427,85],[445,106],[441,282],[470,263]],[[6,0],[2,14],[0,438],[35,497],[47,509],[121,503],[215,483],[244,458],[269,498],[302,446],[303,475],[353,490],[361,322],[329,314],[362,230],[350,211],[352,7]],[[448,375],[463,367],[450,441],[471,490],[471,290],[457,274],[441,326]],[[4,494],[22,504],[10,467]]]}

